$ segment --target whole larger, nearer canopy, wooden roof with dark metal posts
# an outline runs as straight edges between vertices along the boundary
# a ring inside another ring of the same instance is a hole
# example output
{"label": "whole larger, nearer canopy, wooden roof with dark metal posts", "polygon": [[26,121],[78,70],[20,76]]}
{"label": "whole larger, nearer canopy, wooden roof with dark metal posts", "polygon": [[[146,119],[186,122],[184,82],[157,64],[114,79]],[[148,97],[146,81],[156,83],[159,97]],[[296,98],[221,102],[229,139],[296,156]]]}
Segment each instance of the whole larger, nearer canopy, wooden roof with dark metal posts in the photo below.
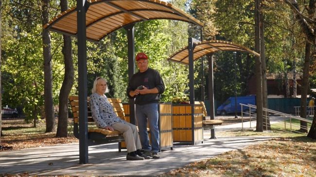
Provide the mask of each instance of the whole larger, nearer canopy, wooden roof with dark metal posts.
{"label": "whole larger, nearer canopy, wooden roof with dark metal posts", "polygon": [[[45,30],[78,38],[79,163],[88,163],[87,40],[99,42],[118,29],[127,31],[128,78],[135,72],[134,24],[171,19],[203,26],[174,5],[160,0],[77,0],[77,6],[56,16]],[[134,99],[129,100],[130,120],[135,124]]]}

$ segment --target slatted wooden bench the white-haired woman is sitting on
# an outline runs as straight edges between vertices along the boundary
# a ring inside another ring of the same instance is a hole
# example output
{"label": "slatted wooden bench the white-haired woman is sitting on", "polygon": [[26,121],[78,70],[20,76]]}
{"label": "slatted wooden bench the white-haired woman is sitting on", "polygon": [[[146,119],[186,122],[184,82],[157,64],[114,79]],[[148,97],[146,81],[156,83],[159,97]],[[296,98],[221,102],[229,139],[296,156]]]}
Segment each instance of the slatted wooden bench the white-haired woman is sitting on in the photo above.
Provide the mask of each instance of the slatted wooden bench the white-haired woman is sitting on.
{"label": "slatted wooden bench the white-haired woman is sitting on", "polygon": [[[73,135],[79,139],[79,98],[78,96],[70,96],[70,106],[73,113]],[[88,102],[89,102],[88,97]],[[114,112],[123,120],[125,120],[123,104],[119,98],[108,98],[109,102],[114,107]],[[91,111],[88,103],[88,122],[93,122]],[[96,128],[95,124],[88,126],[88,145],[100,145],[108,143],[123,142],[123,134],[120,131],[110,131],[107,129]],[[121,144],[119,144],[121,152]]]}

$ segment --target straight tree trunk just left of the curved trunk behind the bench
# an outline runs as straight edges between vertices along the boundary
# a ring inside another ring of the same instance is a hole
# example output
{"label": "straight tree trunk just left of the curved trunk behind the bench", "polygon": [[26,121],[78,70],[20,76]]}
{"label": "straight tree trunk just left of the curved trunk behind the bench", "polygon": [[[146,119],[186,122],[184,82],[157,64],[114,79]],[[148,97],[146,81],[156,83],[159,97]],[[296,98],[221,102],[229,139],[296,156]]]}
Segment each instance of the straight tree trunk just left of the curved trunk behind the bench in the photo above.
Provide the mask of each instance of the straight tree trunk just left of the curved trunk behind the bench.
{"label": "straight tree trunk just left of the curved trunk behind the bench", "polygon": [[[42,24],[49,21],[50,0],[42,0]],[[55,116],[53,108],[53,71],[51,54],[51,37],[48,30],[43,29],[43,56],[44,56],[44,107],[46,118],[46,132],[55,131]]]}

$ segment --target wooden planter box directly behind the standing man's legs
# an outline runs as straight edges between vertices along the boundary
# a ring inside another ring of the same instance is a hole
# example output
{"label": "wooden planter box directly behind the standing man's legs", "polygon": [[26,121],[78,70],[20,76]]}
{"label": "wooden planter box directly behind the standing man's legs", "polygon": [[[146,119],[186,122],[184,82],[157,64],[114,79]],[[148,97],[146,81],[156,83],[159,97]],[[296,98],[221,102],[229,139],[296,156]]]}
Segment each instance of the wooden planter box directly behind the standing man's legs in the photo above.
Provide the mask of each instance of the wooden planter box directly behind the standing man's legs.
{"label": "wooden planter box directly behind the standing man's legs", "polygon": [[[125,119],[130,122],[129,104],[123,103]],[[172,104],[159,103],[158,104],[158,127],[160,132],[160,150],[173,149],[173,134],[172,134]],[[150,132],[148,132],[150,141]],[[120,143],[122,148],[126,148],[124,142]],[[119,145],[120,145],[119,144]]]}

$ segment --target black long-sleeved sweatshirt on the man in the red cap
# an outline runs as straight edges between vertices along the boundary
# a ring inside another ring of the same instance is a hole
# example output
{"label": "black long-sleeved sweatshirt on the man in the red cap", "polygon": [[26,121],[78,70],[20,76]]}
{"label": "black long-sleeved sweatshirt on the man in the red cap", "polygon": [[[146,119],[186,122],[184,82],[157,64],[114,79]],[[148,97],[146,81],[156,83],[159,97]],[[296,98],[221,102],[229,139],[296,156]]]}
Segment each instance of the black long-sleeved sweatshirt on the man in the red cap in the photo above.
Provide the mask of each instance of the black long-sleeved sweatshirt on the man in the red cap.
{"label": "black long-sleeved sweatshirt on the man in the red cap", "polygon": [[137,72],[128,82],[126,89],[127,96],[134,98],[129,95],[130,91],[134,91],[140,85],[145,86],[148,89],[157,88],[158,94],[145,94],[135,96],[135,104],[144,105],[149,103],[158,103],[160,100],[160,94],[165,91],[165,85],[160,77],[158,71],[148,68],[145,72]]}

